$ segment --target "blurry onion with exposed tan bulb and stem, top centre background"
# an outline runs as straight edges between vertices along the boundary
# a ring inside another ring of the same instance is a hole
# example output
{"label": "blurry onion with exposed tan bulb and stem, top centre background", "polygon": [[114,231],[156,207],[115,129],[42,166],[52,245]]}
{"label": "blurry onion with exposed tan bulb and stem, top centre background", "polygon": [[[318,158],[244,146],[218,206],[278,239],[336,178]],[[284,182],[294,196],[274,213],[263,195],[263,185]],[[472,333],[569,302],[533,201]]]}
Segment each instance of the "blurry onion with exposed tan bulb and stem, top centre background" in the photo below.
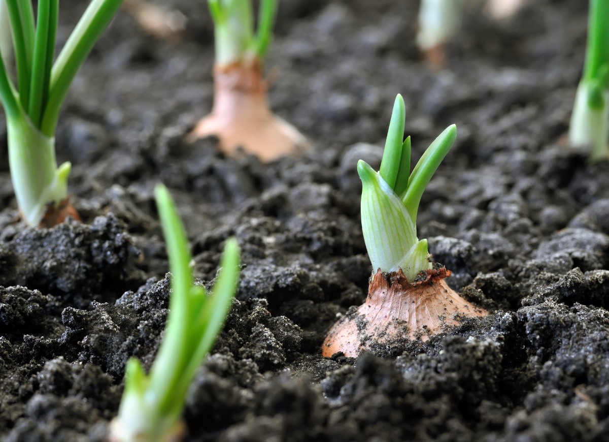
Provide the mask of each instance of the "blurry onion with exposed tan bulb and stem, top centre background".
{"label": "blurry onion with exposed tan bulb and stem, top centre background", "polygon": [[308,149],[306,138],[275,116],[266,98],[264,59],[278,1],[260,1],[257,30],[251,0],[208,0],[208,5],[216,45],[214,104],[191,140],[216,135],[227,154],[242,148],[264,161]]}

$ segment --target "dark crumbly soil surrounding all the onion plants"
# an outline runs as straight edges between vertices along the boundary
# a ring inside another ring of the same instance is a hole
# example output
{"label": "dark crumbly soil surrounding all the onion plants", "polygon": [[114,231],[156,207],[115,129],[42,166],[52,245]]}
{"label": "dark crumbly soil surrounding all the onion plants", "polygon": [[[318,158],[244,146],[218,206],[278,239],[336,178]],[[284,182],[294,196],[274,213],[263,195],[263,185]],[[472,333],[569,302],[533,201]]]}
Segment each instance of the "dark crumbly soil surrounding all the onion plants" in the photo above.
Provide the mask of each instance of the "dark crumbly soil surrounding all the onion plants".
{"label": "dark crumbly soil surrounding all the onion plants", "polygon": [[[60,44],[82,3],[62,2]],[[609,162],[589,165],[565,138],[586,3],[530,1],[496,22],[467,2],[434,72],[415,1],[282,1],[269,101],[315,148],[269,164],[185,141],[213,98],[205,2],[163,2],[188,18],[172,39],[119,12],[57,131],[83,223],[19,221],[1,119],[2,440],[105,440],[125,362],[152,364],[169,296],[160,181],[200,283],[228,237],[242,251],[237,299],[186,402],[188,440],[609,440]],[[396,93],[415,159],[457,124],[418,233],[491,315],[322,358],[337,315],[367,293],[356,162],[378,168]]]}

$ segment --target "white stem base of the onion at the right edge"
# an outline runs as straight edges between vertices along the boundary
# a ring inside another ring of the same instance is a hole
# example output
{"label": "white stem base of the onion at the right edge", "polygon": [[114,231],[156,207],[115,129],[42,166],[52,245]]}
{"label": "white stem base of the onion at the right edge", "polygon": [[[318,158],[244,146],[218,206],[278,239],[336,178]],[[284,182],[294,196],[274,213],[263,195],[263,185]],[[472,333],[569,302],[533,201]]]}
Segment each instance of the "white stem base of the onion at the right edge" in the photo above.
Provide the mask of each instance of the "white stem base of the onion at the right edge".
{"label": "white stem base of the onion at the right edge", "polygon": [[590,107],[590,84],[582,81],[577,87],[569,126],[569,143],[574,147],[590,146],[590,160],[607,158],[609,152],[609,90],[602,91],[604,105]]}

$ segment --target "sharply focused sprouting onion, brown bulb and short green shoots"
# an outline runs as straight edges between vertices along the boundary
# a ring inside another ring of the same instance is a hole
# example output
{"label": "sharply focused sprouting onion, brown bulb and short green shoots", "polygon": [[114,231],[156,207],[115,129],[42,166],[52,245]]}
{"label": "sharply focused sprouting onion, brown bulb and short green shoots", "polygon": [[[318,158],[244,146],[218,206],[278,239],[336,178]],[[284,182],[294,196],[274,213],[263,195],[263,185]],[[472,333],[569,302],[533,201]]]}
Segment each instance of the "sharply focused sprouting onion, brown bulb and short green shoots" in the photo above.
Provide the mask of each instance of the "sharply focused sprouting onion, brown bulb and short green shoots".
{"label": "sharply focused sprouting onion, brown bulb and short green shoots", "polygon": [[463,316],[485,310],[465,301],[445,282],[451,272],[432,262],[427,240],[417,238],[417,213],[423,191],[457,137],[447,127],[410,171],[410,137],[404,140],[406,109],[395,99],[381,168],[359,160],[362,180],[362,231],[372,263],[365,304],[340,319],[326,337],[322,354],[356,357],[362,349],[401,340],[427,339]]}

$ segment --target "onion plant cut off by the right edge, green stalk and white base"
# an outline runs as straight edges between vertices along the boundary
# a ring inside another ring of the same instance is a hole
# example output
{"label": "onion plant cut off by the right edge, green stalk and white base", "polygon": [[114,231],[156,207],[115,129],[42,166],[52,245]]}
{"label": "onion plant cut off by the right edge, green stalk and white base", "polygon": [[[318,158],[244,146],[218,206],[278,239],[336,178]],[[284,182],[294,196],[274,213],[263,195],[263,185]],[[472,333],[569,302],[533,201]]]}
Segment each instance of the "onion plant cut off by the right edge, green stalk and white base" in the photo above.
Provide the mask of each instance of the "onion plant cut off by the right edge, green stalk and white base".
{"label": "onion plant cut off by the right edge, green stalk and white base", "polygon": [[577,87],[569,141],[590,146],[590,160],[607,158],[609,148],[609,1],[590,0],[588,44]]}

